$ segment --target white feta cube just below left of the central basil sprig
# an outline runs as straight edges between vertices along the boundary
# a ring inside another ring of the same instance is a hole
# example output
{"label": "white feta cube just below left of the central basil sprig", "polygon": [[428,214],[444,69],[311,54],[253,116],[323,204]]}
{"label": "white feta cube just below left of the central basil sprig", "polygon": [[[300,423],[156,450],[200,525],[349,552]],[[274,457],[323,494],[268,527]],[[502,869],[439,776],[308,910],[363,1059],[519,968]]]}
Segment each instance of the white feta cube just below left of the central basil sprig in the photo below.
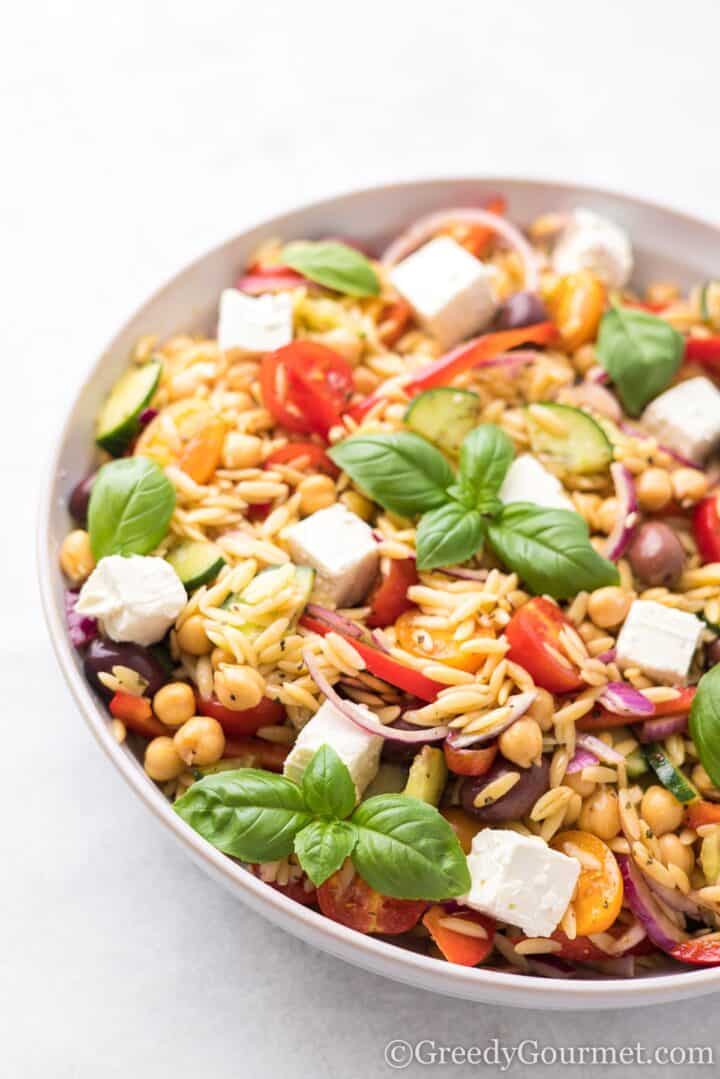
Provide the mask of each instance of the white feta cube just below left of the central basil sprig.
{"label": "white feta cube just below left of the central basil sprig", "polygon": [[294,562],[315,570],[313,597],[320,603],[352,606],[365,599],[380,556],[371,529],[356,514],[336,503],[294,524],[285,535]]}

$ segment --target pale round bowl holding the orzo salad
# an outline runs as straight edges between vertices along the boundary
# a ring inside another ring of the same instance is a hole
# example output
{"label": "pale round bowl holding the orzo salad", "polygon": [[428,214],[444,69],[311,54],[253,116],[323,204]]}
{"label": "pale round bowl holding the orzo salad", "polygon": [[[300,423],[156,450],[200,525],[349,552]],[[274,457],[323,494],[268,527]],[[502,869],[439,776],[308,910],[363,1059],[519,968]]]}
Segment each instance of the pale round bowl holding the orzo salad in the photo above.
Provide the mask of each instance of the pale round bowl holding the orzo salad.
{"label": "pale round bowl holding the orzo salad", "polygon": [[276,217],[236,236],[193,262],[130,319],[79,388],[57,440],[42,497],[39,570],[43,604],[58,661],[93,735],[114,766],[171,835],[210,875],[282,929],[375,973],[424,989],[520,1008],[597,1009],[663,1003],[720,988],[720,969],[682,971],[633,981],[536,979],[483,968],[464,968],[417,955],[347,929],[262,884],[210,847],[173,811],[158,788],[109,728],[107,712],[90,691],[64,618],[64,585],[57,554],[69,525],[67,495],[93,461],[94,420],[100,401],[127,364],[132,345],[146,333],[161,338],[213,326],[220,290],[267,237],[342,235],[379,244],[429,210],[477,205],[502,191],[510,216],[526,223],[543,211],[587,206],[628,229],[636,252],[636,282],[675,281],[681,286],[717,272],[720,229],[651,203],[571,185],[512,179],[430,180],[341,195]]}

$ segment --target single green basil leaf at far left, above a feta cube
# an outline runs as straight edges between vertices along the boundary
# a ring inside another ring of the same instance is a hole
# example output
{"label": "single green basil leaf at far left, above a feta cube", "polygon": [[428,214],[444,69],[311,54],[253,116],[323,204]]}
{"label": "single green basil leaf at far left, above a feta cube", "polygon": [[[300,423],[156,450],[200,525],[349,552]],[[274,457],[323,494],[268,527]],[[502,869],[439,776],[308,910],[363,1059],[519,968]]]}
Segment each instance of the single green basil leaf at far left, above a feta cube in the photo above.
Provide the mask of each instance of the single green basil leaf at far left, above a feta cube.
{"label": "single green basil leaf at far left, above a feta cube", "polygon": [[174,509],[175,488],[154,461],[110,461],[97,474],[87,508],[95,559],[148,555],[165,538]]}

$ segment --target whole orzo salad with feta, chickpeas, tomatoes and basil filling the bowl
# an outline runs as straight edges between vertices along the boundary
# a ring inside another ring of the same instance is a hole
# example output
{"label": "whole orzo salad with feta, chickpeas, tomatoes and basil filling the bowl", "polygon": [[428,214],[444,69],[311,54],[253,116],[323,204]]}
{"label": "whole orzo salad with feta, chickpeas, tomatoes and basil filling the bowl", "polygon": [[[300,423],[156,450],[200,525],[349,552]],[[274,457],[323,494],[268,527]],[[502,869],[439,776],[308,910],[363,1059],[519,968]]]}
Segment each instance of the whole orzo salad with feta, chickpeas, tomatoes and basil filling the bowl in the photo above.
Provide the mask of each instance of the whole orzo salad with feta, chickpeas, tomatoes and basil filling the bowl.
{"label": "whole orzo salad with feta, chickpeas, tomatoes and basil filling the bowl", "polygon": [[137,342],[59,551],[178,815],[463,966],[720,962],[720,282],[502,197],[269,240]]}

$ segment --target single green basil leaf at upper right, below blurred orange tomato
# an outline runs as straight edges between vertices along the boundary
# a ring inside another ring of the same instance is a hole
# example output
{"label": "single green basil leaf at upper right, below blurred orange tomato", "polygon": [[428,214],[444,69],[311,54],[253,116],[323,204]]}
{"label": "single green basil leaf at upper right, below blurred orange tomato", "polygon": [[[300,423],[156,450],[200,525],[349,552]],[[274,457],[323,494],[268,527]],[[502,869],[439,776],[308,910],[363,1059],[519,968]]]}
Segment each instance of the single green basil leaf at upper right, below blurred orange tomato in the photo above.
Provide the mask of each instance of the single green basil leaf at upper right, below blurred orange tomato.
{"label": "single green basil leaf at upper right, below blurred orange tomato", "polygon": [[602,316],[598,359],[630,415],[668,387],[682,353],[682,336],[664,318],[631,308],[611,308]]}

